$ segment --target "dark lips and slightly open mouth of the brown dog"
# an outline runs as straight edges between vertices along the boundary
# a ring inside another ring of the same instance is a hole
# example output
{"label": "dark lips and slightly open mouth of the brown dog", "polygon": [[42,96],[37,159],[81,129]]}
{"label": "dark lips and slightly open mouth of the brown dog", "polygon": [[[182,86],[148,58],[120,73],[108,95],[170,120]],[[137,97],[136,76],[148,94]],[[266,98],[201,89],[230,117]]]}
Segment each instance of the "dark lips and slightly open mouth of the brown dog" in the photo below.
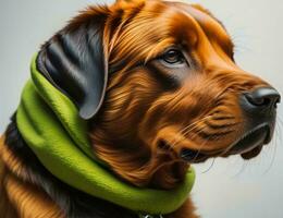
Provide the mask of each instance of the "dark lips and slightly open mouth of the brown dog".
{"label": "dark lips and slightly open mouth of the brown dog", "polygon": [[224,150],[208,154],[201,150],[184,148],[181,150],[181,158],[194,164],[204,162],[211,157],[227,157],[231,155],[241,155],[244,159],[250,159],[259,155],[263,145],[270,143],[272,132],[271,125],[264,123],[244,134]]}

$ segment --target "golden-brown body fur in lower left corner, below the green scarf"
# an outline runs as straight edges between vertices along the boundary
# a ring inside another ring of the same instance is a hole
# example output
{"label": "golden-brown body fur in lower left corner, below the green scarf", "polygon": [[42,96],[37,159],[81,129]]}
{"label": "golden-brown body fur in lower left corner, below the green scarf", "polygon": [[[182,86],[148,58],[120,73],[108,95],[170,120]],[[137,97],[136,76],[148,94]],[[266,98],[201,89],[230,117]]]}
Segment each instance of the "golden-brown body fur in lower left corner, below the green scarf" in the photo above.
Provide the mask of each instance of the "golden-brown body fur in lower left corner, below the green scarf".
{"label": "golden-brown body fur in lower left corner, below the green scarf", "polygon": [[1,217],[63,217],[51,198],[33,184],[24,165],[4,145],[4,136],[0,138],[0,157],[3,161],[0,175]]}

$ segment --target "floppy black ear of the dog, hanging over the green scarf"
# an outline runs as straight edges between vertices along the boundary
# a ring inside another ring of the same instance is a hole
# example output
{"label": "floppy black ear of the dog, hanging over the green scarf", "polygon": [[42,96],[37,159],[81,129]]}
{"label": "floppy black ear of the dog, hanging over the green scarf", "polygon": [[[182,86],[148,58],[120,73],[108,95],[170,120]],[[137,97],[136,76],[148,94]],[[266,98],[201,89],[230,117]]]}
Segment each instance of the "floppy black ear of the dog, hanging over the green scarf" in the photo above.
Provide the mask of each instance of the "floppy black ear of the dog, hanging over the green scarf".
{"label": "floppy black ear of the dog, hanging over the green scarf", "polygon": [[100,109],[108,81],[108,14],[99,10],[90,8],[71,21],[37,57],[38,71],[75,104],[85,120]]}

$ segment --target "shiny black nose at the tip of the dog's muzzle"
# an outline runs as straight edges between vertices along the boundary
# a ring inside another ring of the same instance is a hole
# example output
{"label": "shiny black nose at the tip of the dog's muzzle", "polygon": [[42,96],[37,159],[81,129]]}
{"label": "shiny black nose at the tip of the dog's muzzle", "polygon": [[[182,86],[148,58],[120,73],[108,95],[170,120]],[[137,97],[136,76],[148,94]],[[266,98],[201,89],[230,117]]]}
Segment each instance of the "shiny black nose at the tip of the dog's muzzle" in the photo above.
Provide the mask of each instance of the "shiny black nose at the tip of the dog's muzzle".
{"label": "shiny black nose at the tip of the dog's muzzle", "polygon": [[245,93],[244,97],[246,102],[243,106],[257,112],[270,112],[280,102],[280,94],[271,87],[257,88],[250,93]]}

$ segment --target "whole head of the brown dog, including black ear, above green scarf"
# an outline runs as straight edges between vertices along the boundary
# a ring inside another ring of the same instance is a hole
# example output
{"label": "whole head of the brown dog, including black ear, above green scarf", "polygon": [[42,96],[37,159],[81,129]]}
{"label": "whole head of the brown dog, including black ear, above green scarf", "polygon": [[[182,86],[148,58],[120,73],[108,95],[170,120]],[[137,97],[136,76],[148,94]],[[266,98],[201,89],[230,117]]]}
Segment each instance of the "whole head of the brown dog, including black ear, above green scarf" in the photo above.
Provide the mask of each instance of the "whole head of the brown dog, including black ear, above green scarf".
{"label": "whole head of the brown dog, including black ear, above green scarf", "polygon": [[209,157],[253,158],[273,134],[280,95],[237,66],[227,32],[200,5],[89,8],[37,64],[88,120],[96,155],[136,185],[173,187]]}

